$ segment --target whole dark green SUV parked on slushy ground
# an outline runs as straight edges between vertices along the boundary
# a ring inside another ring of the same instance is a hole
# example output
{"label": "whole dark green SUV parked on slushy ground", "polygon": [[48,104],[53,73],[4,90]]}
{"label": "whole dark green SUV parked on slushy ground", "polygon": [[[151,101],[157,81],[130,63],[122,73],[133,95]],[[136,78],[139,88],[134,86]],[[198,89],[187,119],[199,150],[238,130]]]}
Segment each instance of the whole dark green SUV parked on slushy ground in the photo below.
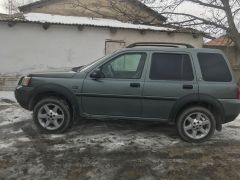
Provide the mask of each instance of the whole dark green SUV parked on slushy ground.
{"label": "whole dark green SUV parked on slushy ground", "polygon": [[135,43],[71,71],[30,74],[15,96],[46,133],[82,118],[146,120],[176,124],[183,140],[198,143],[240,112],[225,55],[174,43]]}

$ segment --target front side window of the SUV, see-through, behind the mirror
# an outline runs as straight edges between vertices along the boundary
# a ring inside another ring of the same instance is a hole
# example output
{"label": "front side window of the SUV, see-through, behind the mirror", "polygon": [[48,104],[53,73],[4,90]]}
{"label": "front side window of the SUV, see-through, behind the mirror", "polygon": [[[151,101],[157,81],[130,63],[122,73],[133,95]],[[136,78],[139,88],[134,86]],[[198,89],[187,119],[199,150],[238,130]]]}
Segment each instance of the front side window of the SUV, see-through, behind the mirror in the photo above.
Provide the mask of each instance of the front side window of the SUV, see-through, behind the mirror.
{"label": "front side window of the SUV, see-through, behind the mirror", "polygon": [[145,65],[145,53],[124,54],[104,64],[101,71],[105,78],[139,79]]}

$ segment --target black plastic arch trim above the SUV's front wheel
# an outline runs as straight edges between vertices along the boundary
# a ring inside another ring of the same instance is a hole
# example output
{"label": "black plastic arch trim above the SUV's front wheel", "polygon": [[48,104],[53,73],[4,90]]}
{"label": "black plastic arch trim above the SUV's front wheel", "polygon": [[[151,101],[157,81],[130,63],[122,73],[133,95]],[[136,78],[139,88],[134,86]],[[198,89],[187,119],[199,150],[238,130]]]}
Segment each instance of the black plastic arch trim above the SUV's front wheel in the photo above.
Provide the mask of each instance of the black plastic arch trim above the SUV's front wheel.
{"label": "black plastic arch trim above the SUV's front wheel", "polygon": [[49,96],[55,96],[66,100],[72,110],[74,119],[80,114],[80,108],[74,93],[66,87],[57,84],[45,84],[35,88],[29,101],[29,109],[33,110],[39,100]]}

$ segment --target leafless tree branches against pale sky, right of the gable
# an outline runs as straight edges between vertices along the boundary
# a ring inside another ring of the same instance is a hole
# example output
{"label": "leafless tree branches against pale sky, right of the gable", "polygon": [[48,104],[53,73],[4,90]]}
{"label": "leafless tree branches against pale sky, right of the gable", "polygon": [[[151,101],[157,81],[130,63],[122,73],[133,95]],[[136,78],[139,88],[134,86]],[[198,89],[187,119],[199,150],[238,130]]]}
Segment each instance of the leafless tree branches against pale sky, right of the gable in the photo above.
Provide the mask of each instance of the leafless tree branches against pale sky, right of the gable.
{"label": "leafless tree branches against pale sky, right of the gable", "polygon": [[[226,34],[240,50],[240,0],[142,0],[168,18],[167,26],[190,27],[215,37]],[[179,12],[184,5],[198,5],[201,16]]]}

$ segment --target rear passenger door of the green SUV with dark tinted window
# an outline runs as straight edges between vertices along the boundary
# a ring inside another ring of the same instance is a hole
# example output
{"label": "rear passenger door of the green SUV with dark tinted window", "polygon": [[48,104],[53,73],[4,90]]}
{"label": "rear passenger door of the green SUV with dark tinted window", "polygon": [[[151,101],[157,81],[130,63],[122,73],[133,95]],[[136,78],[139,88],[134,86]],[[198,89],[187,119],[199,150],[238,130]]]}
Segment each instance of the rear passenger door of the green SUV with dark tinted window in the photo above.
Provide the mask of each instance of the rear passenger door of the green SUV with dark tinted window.
{"label": "rear passenger door of the green SUV with dark tinted window", "polygon": [[143,89],[143,117],[167,120],[178,99],[198,94],[193,67],[186,52],[152,52]]}

